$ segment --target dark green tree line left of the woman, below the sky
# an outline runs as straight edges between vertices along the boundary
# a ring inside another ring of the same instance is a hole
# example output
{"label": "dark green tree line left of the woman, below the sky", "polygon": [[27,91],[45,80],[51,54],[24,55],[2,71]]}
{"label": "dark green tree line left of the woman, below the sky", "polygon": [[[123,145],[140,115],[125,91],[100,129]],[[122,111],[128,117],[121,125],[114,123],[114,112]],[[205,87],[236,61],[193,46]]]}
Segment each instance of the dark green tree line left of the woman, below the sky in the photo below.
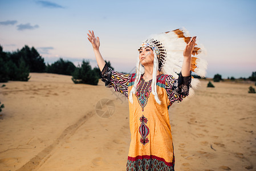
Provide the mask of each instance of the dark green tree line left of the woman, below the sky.
{"label": "dark green tree line left of the woman, below the sky", "polygon": [[[113,68],[110,62],[105,61]],[[52,64],[45,64],[44,59],[34,47],[25,45],[21,50],[4,52],[0,45],[0,82],[28,81],[30,72],[72,75],[74,83],[97,85],[100,78],[99,67],[92,68],[86,60],[76,67],[68,60],[58,59]]]}

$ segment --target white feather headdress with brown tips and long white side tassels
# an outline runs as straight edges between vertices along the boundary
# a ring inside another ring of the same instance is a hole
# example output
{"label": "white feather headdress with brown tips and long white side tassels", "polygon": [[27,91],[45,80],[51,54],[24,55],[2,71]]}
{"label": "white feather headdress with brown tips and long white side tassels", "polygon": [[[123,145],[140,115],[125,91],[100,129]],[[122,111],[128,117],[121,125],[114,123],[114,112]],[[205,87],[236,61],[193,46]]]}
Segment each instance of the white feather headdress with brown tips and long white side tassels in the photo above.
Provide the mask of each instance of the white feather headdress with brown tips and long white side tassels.
{"label": "white feather headdress with brown tips and long white side tassels", "polygon": [[[155,99],[159,104],[161,104],[161,101],[159,100],[156,92],[156,71],[159,70],[163,74],[172,75],[177,79],[184,60],[183,51],[190,39],[191,37],[189,36],[188,31],[186,31],[185,28],[180,28],[157,35],[151,35],[140,46],[150,46],[154,52],[152,93],[155,95]],[[197,43],[192,52],[190,70],[201,78],[204,78],[206,74],[207,62],[204,59],[205,56],[206,50],[204,46],[202,46],[202,44],[198,46]],[[135,93],[136,86],[141,78],[141,74],[144,73],[144,68],[141,66],[139,58],[137,59],[136,68],[135,84],[129,94],[129,100],[131,103],[132,94]],[[198,86],[199,83],[200,82],[198,79],[192,77],[189,96],[194,94],[194,89]]]}

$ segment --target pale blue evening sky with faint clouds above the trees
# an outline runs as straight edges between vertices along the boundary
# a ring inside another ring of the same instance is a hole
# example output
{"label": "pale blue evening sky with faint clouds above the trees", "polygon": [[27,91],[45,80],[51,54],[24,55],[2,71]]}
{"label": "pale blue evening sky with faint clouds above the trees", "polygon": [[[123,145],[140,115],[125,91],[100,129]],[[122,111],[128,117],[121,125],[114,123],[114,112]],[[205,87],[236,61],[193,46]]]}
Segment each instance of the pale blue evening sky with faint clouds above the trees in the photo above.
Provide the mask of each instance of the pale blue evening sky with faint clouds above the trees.
{"label": "pale blue evening sky with faint clouds above the trees", "polygon": [[0,0],[3,51],[35,47],[46,63],[59,58],[96,66],[88,30],[116,71],[129,72],[151,34],[184,27],[207,50],[206,77],[249,77],[256,71],[256,1]]}

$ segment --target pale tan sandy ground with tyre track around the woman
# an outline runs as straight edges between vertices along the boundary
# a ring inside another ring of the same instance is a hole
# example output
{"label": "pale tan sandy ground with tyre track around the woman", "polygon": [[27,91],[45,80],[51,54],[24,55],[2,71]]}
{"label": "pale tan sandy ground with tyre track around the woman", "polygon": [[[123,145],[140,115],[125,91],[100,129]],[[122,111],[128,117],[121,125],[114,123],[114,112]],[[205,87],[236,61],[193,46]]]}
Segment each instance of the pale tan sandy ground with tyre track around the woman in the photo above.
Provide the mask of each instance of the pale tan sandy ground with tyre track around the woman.
{"label": "pale tan sandy ground with tyre track around the woman", "polygon": [[[256,170],[253,84],[207,83],[169,109],[175,169]],[[125,170],[131,134],[121,93],[57,74],[4,84],[0,170]]]}

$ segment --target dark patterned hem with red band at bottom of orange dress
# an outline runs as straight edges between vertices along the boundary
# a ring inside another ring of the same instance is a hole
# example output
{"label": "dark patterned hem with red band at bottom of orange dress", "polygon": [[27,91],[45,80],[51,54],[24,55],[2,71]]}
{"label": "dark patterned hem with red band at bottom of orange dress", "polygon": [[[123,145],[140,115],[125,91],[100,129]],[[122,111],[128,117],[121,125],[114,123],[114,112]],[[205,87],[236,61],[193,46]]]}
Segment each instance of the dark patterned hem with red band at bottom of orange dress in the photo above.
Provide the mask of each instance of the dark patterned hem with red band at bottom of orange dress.
{"label": "dark patterned hem with red band at bottom of orange dress", "polygon": [[165,162],[163,158],[157,156],[137,156],[128,157],[127,171],[129,170],[161,170],[174,171],[174,162]]}

